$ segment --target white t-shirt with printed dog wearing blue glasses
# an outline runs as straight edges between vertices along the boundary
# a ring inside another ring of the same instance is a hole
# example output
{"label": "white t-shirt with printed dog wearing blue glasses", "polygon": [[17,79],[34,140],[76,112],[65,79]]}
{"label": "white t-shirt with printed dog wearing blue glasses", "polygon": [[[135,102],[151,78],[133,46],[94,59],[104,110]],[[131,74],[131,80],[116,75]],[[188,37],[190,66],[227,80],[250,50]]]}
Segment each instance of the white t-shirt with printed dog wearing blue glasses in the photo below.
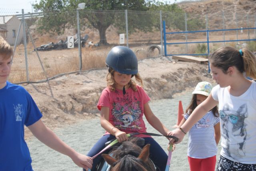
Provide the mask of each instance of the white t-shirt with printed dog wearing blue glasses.
{"label": "white t-shirt with printed dog wearing blue glasses", "polygon": [[256,82],[242,95],[216,85],[212,97],[219,102],[220,155],[235,162],[256,164]]}

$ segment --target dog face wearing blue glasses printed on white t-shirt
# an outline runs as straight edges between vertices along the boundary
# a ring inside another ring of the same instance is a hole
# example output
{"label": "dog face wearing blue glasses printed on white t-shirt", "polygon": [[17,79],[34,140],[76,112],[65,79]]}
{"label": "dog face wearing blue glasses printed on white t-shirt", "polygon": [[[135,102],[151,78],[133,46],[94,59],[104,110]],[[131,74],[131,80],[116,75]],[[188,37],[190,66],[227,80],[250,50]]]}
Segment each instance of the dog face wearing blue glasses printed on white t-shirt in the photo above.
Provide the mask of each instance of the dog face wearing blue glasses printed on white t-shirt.
{"label": "dog face wearing blue glasses printed on white t-shirt", "polygon": [[220,119],[223,121],[221,131],[224,138],[223,149],[229,157],[236,160],[245,156],[244,147],[247,133],[244,119],[246,117],[248,117],[246,104],[241,105],[237,111],[231,111],[228,104],[225,104],[223,110],[220,110]]}

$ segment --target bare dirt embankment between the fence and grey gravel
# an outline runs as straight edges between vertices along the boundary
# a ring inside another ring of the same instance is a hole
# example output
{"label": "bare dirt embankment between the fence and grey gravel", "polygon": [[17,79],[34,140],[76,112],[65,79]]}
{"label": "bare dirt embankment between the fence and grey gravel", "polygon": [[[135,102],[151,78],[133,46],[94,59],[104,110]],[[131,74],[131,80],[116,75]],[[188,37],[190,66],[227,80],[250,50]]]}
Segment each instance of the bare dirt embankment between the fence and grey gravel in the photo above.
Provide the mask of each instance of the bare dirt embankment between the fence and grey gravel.
{"label": "bare dirt embankment between the fence and grey gravel", "polygon": [[[212,82],[208,64],[174,61],[171,58],[146,58],[138,64],[143,87],[151,99],[172,98],[191,89],[198,82]],[[36,101],[43,114],[42,121],[51,129],[68,127],[99,117],[96,107],[106,87],[107,68],[77,72],[38,84],[22,84]],[[25,129],[26,139],[31,137]]]}

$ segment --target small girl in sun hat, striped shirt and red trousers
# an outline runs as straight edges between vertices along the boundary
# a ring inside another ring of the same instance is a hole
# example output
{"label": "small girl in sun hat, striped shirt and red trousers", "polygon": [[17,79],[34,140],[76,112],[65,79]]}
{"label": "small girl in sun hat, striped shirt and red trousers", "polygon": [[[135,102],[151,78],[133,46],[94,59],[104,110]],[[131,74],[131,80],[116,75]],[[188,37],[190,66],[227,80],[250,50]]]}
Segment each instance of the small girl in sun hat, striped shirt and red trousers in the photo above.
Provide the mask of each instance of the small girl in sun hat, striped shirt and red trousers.
{"label": "small girl in sun hat, striped shirt and red trousers", "polygon": [[[192,92],[192,99],[179,129],[192,111],[202,103],[212,90],[212,84],[200,82]],[[182,131],[182,129],[181,129]],[[190,171],[214,171],[216,164],[217,144],[220,140],[220,118],[215,106],[202,117],[188,132],[188,163]]]}

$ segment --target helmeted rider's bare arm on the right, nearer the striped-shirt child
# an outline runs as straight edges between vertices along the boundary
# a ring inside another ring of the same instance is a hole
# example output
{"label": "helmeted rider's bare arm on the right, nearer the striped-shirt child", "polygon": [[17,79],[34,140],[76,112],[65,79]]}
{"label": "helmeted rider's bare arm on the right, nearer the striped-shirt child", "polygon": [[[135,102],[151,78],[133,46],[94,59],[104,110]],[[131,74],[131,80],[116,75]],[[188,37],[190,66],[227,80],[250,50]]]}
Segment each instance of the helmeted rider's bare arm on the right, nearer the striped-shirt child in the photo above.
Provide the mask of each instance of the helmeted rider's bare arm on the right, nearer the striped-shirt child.
{"label": "helmeted rider's bare arm on the right, nearer the striped-shirt child", "polygon": [[150,125],[152,125],[152,127],[154,127],[154,129],[156,129],[157,131],[162,133],[162,135],[167,135],[170,132],[169,129],[167,129],[162,124],[162,122],[158,119],[158,117],[156,117],[156,115],[154,115],[154,113],[150,109],[148,103],[144,104],[144,114],[145,114],[145,117],[146,117],[148,123]]}

